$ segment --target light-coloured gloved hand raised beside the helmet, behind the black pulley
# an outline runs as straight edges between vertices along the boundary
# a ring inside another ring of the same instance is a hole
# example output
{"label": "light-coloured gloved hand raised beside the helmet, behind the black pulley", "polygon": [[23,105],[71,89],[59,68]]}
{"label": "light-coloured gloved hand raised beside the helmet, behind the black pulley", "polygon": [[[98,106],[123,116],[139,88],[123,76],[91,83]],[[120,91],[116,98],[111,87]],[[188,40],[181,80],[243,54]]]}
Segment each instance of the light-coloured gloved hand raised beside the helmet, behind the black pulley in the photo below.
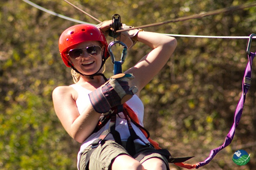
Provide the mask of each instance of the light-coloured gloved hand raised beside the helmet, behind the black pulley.
{"label": "light-coloured gloved hand raised beside the helmet, behind the black pulley", "polygon": [[[140,31],[142,31],[142,29],[133,29],[129,31],[123,31],[123,32],[120,32],[119,34],[114,35],[112,30],[112,20],[103,21],[102,23],[98,24],[96,27],[102,30],[105,37],[109,35],[111,37],[116,38],[118,41],[124,42],[128,49],[130,49],[134,44],[136,44],[137,34]],[[133,27],[122,24],[121,29],[129,29],[129,28],[133,28]]]}

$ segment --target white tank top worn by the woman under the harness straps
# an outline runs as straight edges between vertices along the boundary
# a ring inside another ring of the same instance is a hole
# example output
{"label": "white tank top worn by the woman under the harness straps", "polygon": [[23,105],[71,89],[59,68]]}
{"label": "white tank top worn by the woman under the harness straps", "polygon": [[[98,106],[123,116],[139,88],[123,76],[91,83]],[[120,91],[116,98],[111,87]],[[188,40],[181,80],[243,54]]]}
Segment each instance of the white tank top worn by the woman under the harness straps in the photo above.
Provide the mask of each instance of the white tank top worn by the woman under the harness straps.
{"label": "white tank top worn by the woman under the harness straps", "polygon": [[[88,94],[91,91],[89,91],[86,88],[83,88],[82,86],[77,85],[77,84],[73,84],[70,86],[72,88],[74,88],[78,93],[78,98],[76,99],[76,106],[78,108],[79,113],[82,113],[86,109],[87,105],[90,104],[90,99],[89,99]],[[140,98],[137,95],[134,95],[130,100],[128,100],[126,102],[126,104],[134,111],[134,113],[137,115],[137,117],[139,119],[140,125],[143,126],[144,105],[143,105],[143,102],[140,100]],[[108,123],[105,126],[103,126],[98,132],[91,134],[81,144],[80,151],[78,153],[78,162],[77,162],[78,169],[79,169],[81,153],[84,151],[84,149],[86,147],[88,147],[90,144],[92,144],[92,142],[94,140],[98,139],[104,130],[108,129],[109,122],[110,121],[108,121]],[[133,127],[136,134],[143,140],[143,142],[148,143],[148,139],[141,132],[141,130],[136,125],[134,125],[132,122],[131,122],[131,126]],[[123,115],[122,112],[119,113],[119,116],[116,116],[116,130],[120,133],[121,140],[127,141],[128,137],[130,136],[130,132],[128,129],[127,121],[125,120],[125,116]],[[111,134],[109,134],[106,137],[106,140],[114,141],[113,136]],[[134,142],[139,143],[139,144],[144,144],[139,139],[135,140]]]}

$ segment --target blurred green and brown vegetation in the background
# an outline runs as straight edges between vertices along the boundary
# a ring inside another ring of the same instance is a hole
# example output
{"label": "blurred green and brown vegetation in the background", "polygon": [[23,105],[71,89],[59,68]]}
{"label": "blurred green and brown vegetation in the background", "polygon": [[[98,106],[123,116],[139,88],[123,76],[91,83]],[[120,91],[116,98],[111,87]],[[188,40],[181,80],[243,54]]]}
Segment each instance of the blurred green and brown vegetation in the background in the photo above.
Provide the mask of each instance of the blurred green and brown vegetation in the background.
{"label": "blurred green and brown vegetation in the background", "polygon": [[[99,20],[121,15],[122,23],[141,26],[177,17],[250,3],[254,0],[70,0]],[[97,24],[61,0],[32,0],[56,13]],[[165,34],[249,36],[256,33],[256,7],[201,19],[145,28]],[[0,169],[75,170],[79,143],[65,132],[53,110],[51,93],[72,84],[58,53],[58,37],[77,23],[34,8],[21,0],[0,3]],[[145,127],[174,157],[204,161],[224,142],[233,124],[247,65],[247,39],[176,37],[177,49],[144,88]],[[108,39],[109,42],[112,39]],[[123,69],[150,49],[137,43]],[[253,41],[251,51],[256,50]],[[243,116],[233,142],[202,170],[253,170],[256,167],[256,67]],[[113,74],[107,62],[107,76]],[[146,73],[145,73],[146,74]],[[244,166],[233,163],[236,150],[250,153]],[[182,168],[170,164],[171,170]]]}

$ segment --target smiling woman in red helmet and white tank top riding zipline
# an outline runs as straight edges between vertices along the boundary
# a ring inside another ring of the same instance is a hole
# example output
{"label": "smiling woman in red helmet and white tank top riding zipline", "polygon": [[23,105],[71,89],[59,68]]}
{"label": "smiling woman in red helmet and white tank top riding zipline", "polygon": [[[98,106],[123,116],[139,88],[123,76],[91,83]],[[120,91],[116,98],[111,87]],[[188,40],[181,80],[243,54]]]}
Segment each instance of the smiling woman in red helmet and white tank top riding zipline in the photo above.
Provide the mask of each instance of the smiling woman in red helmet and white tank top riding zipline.
{"label": "smiling woman in red helmet and white tank top riding zipline", "polygon": [[[137,160],[128,153],[125,146],[122,146],[130,136],[128,123],[125,122],[122,111],[116,114],[118,116],[115,121],[115,130],[119,132],[122,143],[118,144],[113,136],[108,135],[99,146],[91,147],[93,141],[109,128],[110,121],[100,130],[94,131],[103,116],[102,113],[108,113],[111,108],[124,102],[137,115],[140,125],[143,125],[144,107],[138,98],[140,91],[163,68],[177,45],[175,38],[162,34],[141,30],[125,31],[122,37],[128,48],[131,48],[137,40],[148,45],[152,50],[136,65],[125,71],[125,74],[111,78],[106,84],[103,65],[109,54],[104,35],[111,28],[111,23],[112,21],[105,21],[98,27],[76,25],[67,28],[61,34],[59,40],[61,57],[65,65],[75,70],[74,73],[79,75],[79,79],[75,79],[77,82],[73,85],[55,88],[52,93],[55,112],[67,133],[77,142],[82,143],[78,154],[78,169],[167,170],[168,161],[161,154],[152,153]],[[117,103],[111,104],[105,91],[115,90],[113,86],[116,87],[116,84],[124,90],[125,95],[120,96]],[[148,146],[145,144],[148,143],[148,139],[139,127],[133,123],[131,126],[140,137],[140,140],[134,141],[135,145],[143,146],[142,150],[147,150]],[[92,148],[94,151],[88,156]],[[140,149],[136,152],[140,153]]]}

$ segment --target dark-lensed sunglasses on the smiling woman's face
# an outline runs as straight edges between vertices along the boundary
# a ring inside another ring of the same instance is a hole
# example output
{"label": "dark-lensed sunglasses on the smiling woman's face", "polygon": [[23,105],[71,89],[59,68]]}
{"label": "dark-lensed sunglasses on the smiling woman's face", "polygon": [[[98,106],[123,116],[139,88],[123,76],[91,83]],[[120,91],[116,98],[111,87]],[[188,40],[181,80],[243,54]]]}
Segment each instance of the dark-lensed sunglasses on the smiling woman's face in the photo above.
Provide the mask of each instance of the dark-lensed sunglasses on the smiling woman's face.
{"label": "dark-lensed sunglasses on the smiling woman's face", "polygon": [[73,58],[76,59],[78,57],[80,57],[84,51],[86,51],[90,56],[96,56],[98,54],[100,54],[102,48],[100,46],[97,45],[92,45],[92,46],[88,46],[86,48],[75,48],[75,49],[71,49],[70,51],[68,51],[68,55]]}

